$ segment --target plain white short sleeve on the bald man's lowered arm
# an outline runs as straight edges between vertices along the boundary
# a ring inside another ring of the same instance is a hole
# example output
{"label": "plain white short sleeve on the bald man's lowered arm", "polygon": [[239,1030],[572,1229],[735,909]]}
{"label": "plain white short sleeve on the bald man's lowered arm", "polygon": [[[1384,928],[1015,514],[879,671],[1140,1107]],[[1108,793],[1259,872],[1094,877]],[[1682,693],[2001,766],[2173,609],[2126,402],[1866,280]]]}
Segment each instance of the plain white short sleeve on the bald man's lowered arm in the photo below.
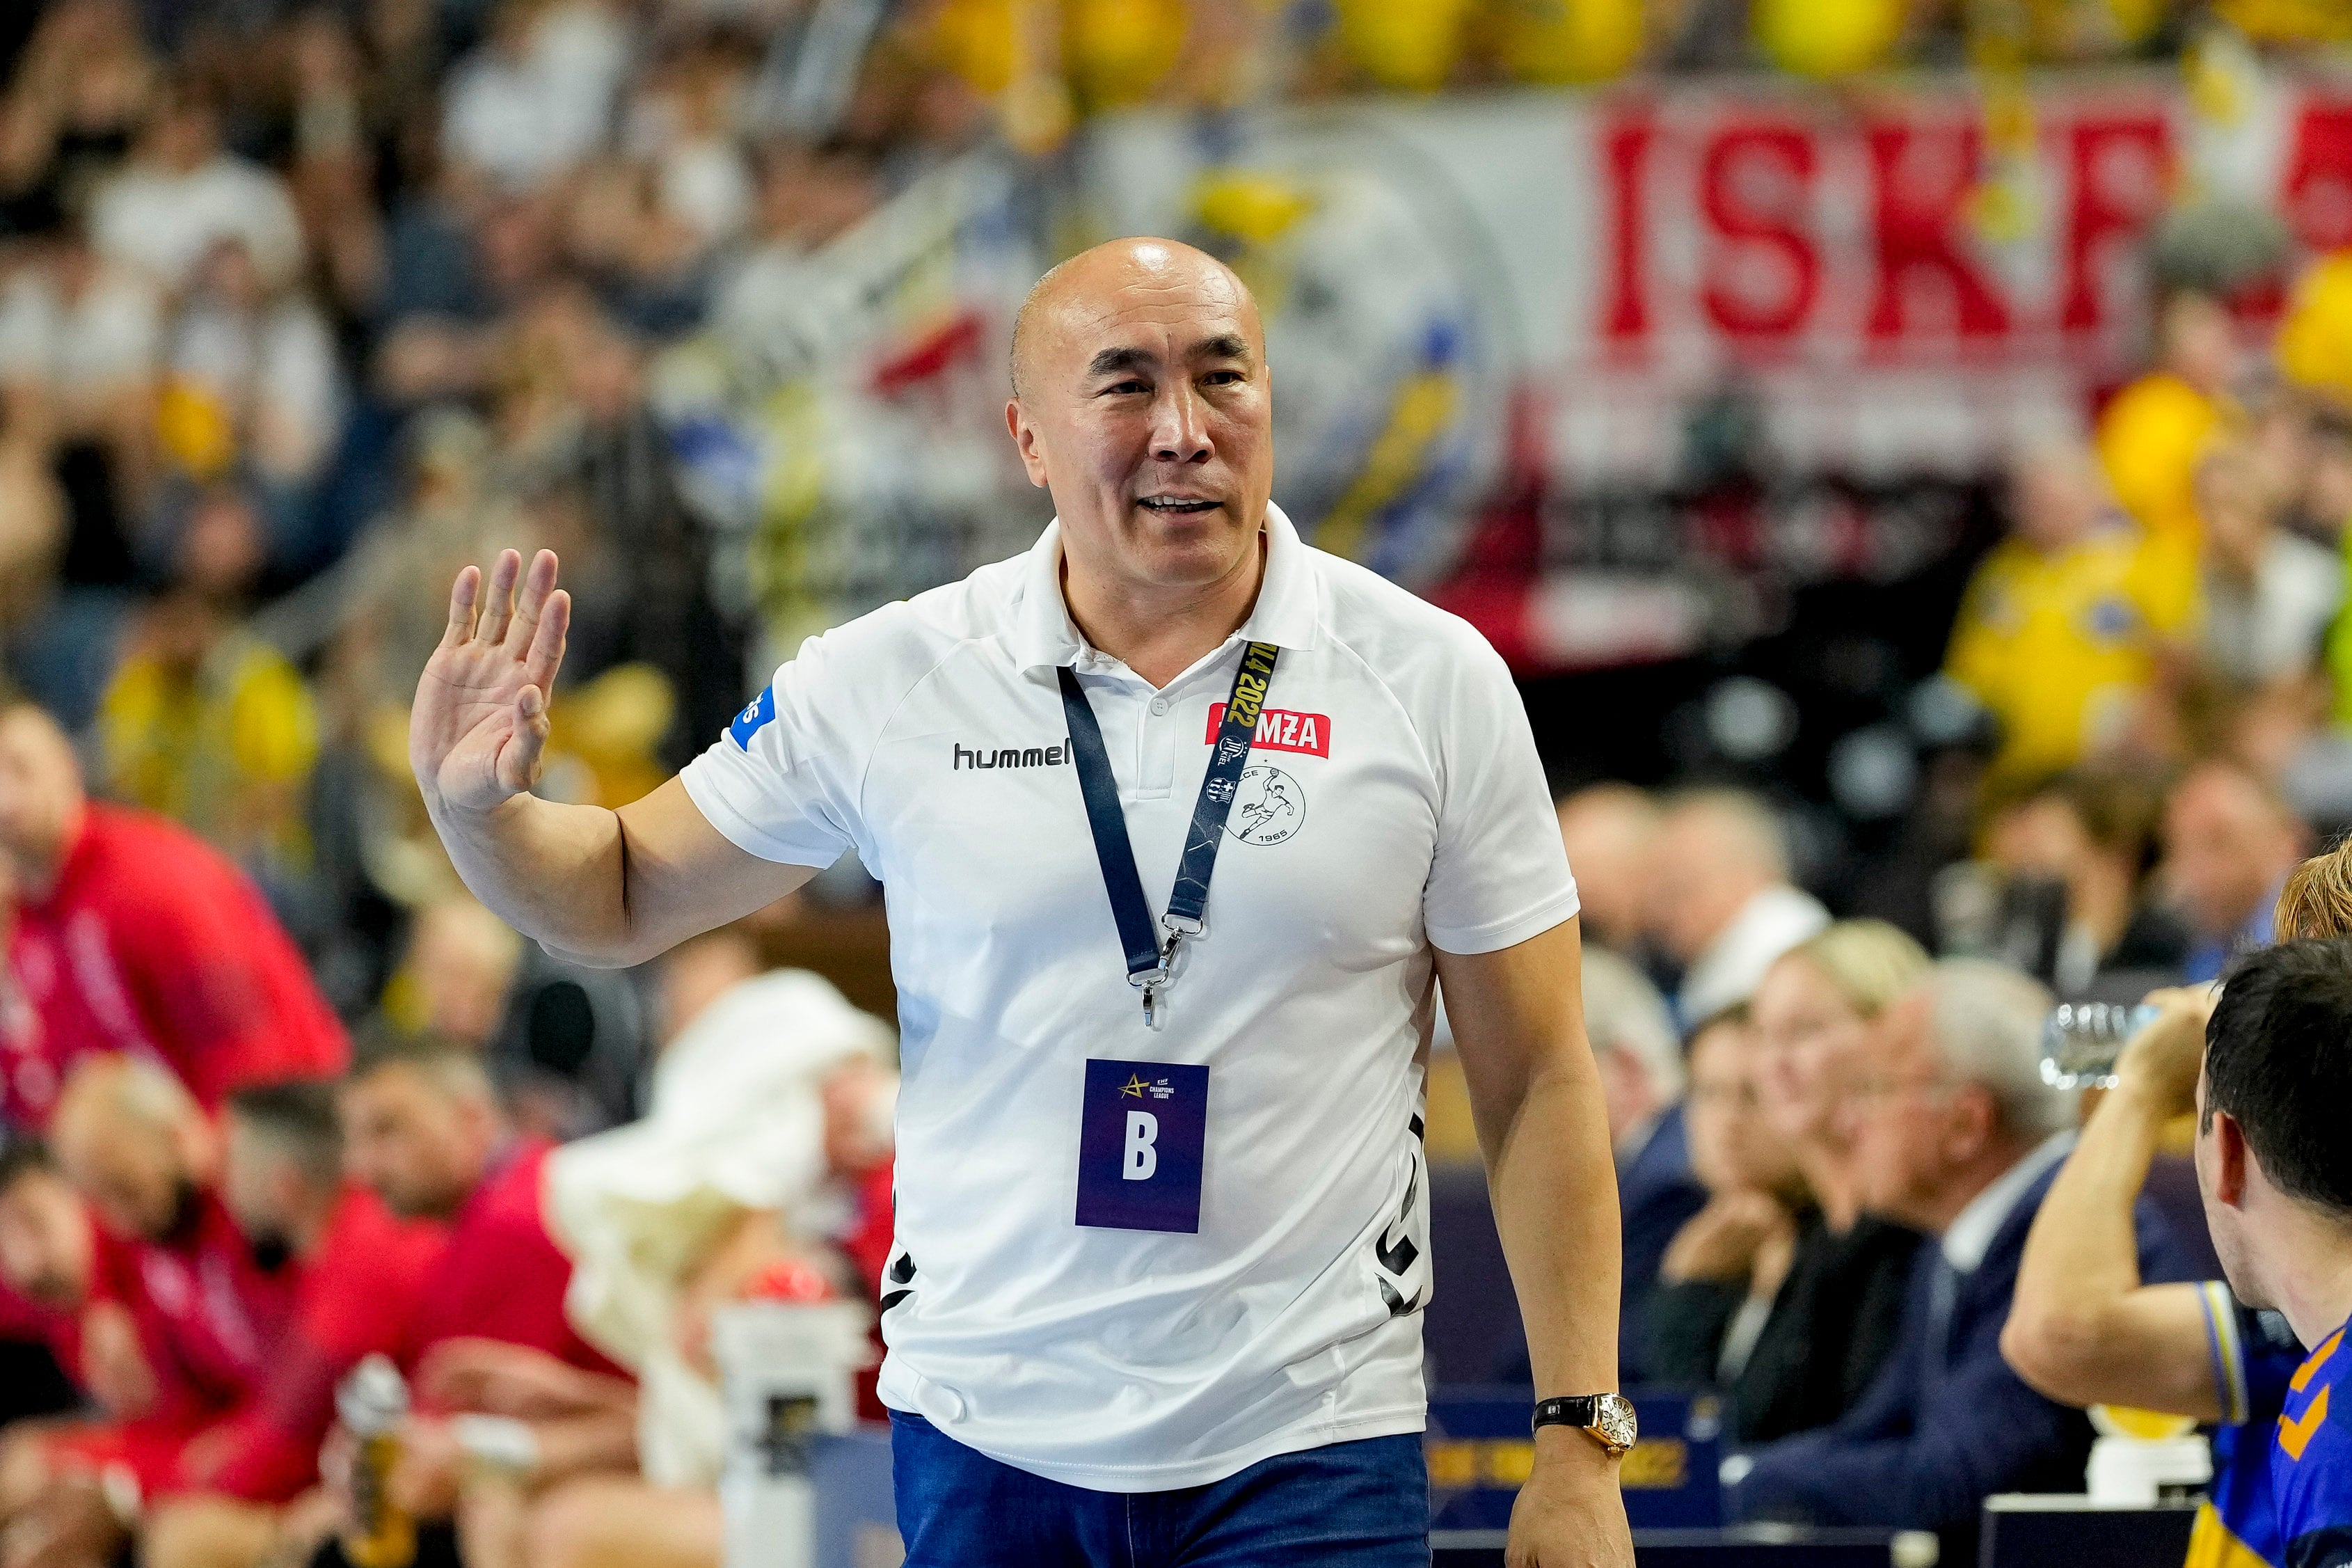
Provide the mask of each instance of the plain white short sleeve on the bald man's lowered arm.
{"label": "plain white short sleeve on the bald man's lowered arm", "polygon": [[1425,719],[1439,809],[1423,926],[1446,952],[1501,952],[1576,914],[1576,879],[1501,656],[1465,632],[1439,689]]}

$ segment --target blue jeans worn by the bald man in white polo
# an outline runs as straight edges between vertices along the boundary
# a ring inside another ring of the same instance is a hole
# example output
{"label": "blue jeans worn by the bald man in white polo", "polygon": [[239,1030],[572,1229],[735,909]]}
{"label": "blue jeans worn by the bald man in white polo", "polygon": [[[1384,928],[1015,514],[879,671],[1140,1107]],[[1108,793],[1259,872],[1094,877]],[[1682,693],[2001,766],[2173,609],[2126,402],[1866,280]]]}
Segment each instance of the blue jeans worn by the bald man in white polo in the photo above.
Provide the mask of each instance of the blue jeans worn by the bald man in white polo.
{"label": "blue jeans worn by the bald man in white polo", "polygon": [[1428,1568],[1421,1436],[1279,1453],[1209,1486],[1094,1493],[891,1410],[906,1568]]}

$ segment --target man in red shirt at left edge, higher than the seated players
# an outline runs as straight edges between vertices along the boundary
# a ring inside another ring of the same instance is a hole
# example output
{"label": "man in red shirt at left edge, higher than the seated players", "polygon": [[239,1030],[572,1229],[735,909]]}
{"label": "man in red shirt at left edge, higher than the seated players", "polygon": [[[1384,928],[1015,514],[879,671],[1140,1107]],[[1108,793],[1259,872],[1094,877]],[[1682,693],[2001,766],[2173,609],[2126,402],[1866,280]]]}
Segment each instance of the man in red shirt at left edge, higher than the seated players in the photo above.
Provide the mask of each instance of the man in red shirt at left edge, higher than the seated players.
{"label": "man in red shirt at left edge, higher than the seated players", "polygon": [[165,1063],[205,1107],[343,1070],[343,1025],[259,889],[183,827],[89,802],[31,703],[0,710],[0,870],[16,896],[0,1117],[47,1126],[96,1051]]}

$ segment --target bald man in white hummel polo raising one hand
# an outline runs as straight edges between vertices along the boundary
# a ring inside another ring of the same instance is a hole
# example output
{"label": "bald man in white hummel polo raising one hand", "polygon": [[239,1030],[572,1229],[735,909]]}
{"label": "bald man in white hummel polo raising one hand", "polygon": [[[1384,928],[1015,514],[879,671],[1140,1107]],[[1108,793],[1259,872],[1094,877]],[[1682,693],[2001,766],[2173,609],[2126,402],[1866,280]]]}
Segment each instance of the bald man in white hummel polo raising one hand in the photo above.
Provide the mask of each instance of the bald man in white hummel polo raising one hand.
{"label": "bald man in white hummel polo raising one hand", "polygon": [[1004,421],[1037,545],[807,642],[621,811],[529,792],[555,557],[461,571],[409,731],[452,860],[593,964],[851,849],[882,879],[917,1566],[1428,1561],[1442,980],[1543,1396],[1510,1561],[1630,1563],[1576,884],[1508,670],[1272,505],[1265,334],[1211,256],[1054,268]]}

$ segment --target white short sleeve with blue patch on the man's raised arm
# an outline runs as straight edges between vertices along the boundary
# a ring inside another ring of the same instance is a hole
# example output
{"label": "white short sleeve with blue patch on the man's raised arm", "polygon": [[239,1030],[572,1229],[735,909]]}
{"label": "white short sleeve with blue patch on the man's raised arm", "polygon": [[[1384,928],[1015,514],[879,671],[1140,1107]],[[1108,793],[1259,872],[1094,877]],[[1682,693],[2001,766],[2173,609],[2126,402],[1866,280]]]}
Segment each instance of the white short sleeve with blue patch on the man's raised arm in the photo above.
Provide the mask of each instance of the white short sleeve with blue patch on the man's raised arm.
{"label": "white short sleeve with blue patch on the man's raised arm", "polygon": [[873,703],[840,679],[837,637],[804,642],[680,773],[710,825],[762,860],[833,865],[858,842]]}

